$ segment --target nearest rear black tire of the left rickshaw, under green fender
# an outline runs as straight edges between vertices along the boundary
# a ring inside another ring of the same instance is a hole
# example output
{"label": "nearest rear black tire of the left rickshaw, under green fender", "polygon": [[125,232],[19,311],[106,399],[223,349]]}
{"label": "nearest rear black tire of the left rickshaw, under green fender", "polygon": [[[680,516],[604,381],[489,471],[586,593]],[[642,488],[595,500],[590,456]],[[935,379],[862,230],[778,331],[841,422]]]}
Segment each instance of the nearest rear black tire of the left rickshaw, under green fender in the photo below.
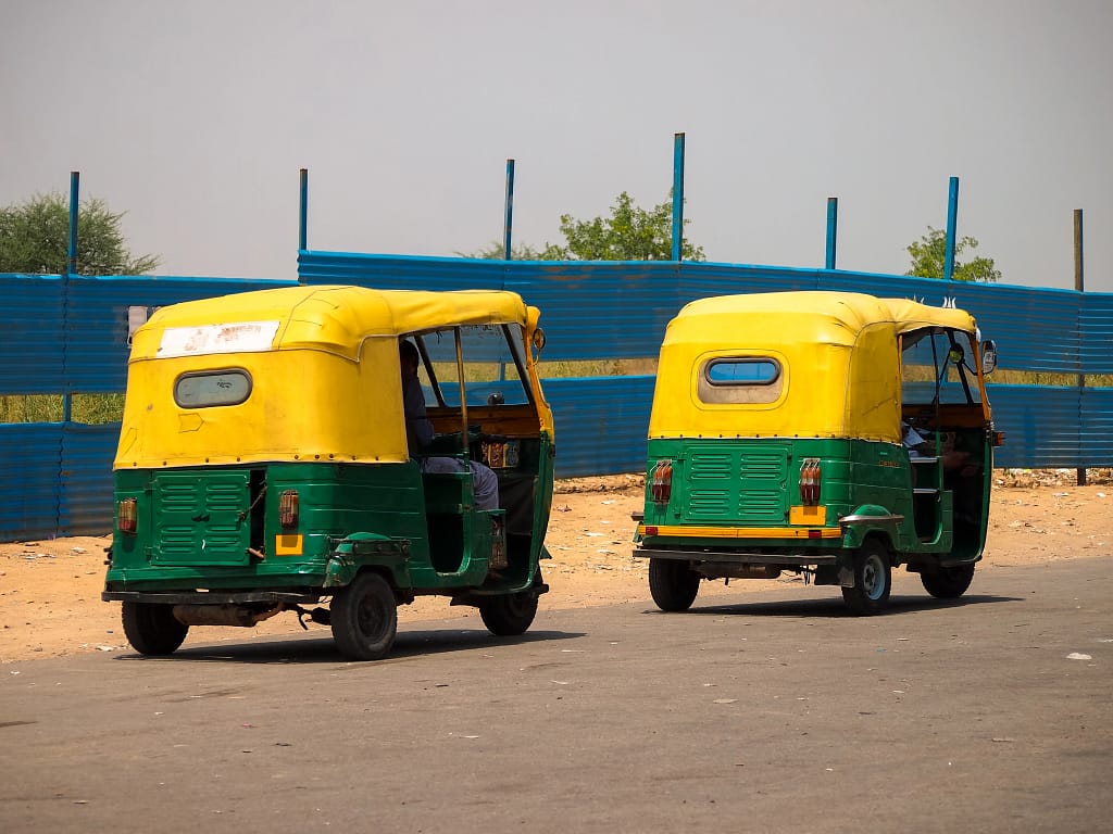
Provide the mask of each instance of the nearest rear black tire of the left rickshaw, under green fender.
{"label": "nearest rear black tire of the left rickshaw, under green fender", "polygon": [[398,631],[394,592],[380,574],[362,573],[333,597],[329,620],[342,655],[378,661],[391,651]]}

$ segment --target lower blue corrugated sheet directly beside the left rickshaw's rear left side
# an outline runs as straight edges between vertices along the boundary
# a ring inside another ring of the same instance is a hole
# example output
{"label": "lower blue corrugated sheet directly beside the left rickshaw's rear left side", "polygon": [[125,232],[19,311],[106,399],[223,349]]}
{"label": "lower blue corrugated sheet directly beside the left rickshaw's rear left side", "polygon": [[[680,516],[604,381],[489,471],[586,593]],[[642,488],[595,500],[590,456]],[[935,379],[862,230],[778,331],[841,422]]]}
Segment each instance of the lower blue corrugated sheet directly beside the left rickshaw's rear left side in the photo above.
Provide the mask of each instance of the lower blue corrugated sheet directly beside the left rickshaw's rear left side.
{"label": "lower blue corrugated sheet directly beside the left rickshaw's rear left side", "polygon": [[112,530],[112,458],[120,424],[68,424],[62,434],[61,499],[58,529],[62,536],[101,536]]}

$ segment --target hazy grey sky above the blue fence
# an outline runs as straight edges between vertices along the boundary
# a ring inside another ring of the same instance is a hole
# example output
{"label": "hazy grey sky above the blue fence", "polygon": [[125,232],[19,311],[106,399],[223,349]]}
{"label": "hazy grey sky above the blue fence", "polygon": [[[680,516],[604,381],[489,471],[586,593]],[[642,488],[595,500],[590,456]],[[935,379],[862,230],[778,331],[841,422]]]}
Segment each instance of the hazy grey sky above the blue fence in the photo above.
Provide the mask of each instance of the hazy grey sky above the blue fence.
{"label": "hazy grey sky above the blue fence", "polygon": [[126,210],[165,275],[294,278],[309,248],[556,242],[667,198],[709,260],[903,272],[946,225],[1008,284],[1113,291],[1113,0],[0,0],[0,205]]}

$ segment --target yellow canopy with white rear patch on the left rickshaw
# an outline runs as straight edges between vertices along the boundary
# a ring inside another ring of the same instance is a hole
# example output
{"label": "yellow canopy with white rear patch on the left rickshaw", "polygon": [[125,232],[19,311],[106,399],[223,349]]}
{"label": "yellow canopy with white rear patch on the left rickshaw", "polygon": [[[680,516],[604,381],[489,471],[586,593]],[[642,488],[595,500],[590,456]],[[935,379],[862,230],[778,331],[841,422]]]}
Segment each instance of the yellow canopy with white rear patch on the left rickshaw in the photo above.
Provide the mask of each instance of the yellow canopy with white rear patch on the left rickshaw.
{"label": "yellow canopy with white rear patch on the left rickshaw", "polygon": [[[528,342],[539,315],[514,292],[333,286],[162,308],[132,339],[115,466],[408,460],[398,336],[520,325]],[[220,407],[178,400],[180,380],[213,371],[250,396]],[[540,429],[551,431],[532,364],[529,374]]]}

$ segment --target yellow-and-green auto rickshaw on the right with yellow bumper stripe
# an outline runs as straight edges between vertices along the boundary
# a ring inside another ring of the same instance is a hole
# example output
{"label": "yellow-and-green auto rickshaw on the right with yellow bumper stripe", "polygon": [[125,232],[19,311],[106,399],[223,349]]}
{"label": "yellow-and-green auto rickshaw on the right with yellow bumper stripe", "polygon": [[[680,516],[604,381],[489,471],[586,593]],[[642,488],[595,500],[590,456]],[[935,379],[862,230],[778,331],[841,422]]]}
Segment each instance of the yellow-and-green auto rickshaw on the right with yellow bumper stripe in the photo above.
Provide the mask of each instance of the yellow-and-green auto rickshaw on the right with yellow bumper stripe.
{"label": "yellow-and-green auto rickshaw on the right with yellow bumper stripe", "polygon": [[823,291],[686,306],[660,350],[636,515],[658,607],[689,608],[701,579],[787,570],[875,614],[899,565],[961,596],[1002,441],[995,366],[952,307]]}

